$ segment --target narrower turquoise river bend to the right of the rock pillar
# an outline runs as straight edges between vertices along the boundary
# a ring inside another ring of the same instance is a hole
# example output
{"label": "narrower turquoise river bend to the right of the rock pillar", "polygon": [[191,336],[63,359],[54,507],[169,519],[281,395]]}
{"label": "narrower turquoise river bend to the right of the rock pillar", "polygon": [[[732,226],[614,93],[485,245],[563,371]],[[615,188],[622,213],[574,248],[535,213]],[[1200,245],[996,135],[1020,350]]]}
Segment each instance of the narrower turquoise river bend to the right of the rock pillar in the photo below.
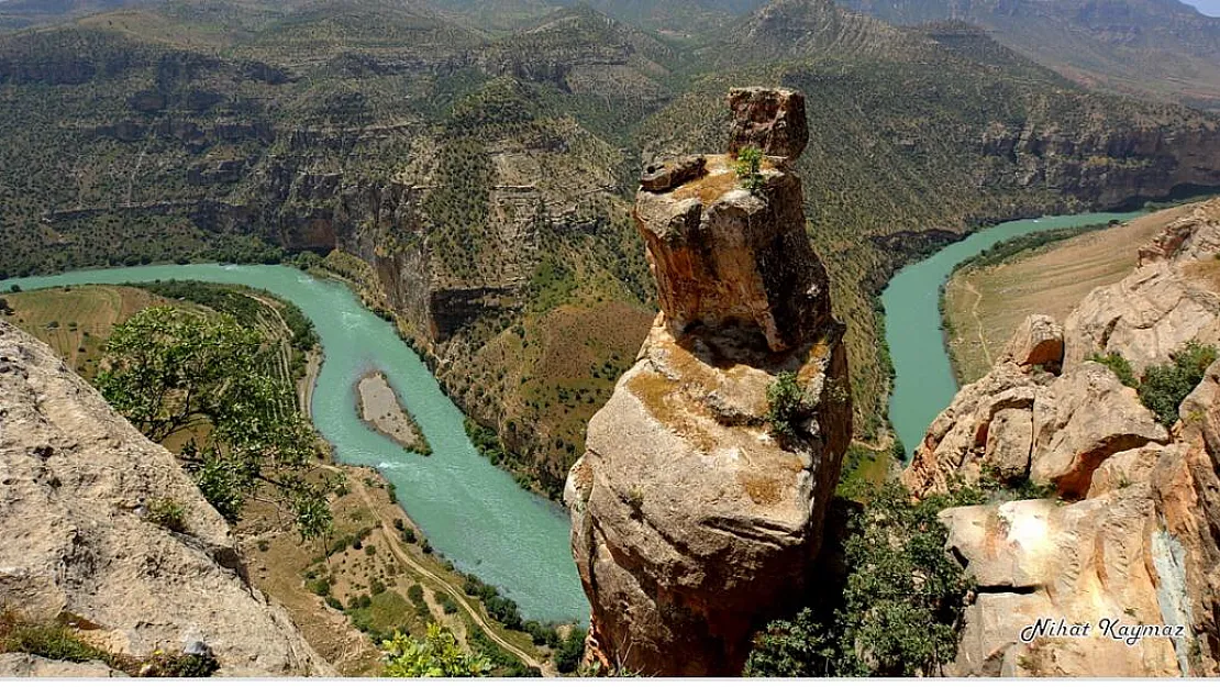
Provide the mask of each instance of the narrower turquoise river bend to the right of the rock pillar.
{"label": "narrower turquoise river bend to the right of the rock pillar", "polygon": [[1098,212],[1004,222],[949,244],[894,275],[881,294],[886,309],[886,343],[894,361],[889,422],[908,458],[924,441],[927,426],[958,393],[941,327],[939,304],[941,288],[953,268],[1005,239],[1047,229],[1104,225],[1111,220],[1125,222],[1142,214]]}

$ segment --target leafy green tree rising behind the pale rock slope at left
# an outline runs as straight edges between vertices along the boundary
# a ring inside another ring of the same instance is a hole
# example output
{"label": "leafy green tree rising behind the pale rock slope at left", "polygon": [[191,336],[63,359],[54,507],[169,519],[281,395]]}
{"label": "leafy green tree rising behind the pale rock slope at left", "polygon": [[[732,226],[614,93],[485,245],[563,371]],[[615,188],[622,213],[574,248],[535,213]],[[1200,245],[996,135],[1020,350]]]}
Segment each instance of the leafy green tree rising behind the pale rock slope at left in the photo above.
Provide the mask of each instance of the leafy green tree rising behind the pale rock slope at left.
{"label": "leafy green tree rising behind the pale rock slope at left", "polygon": [[115,327],[96,384],[155,442],[210,427],[178,459],[227,520],[235,522],[249,498],[270,494],[303,538],[321,537],[331,530],[329,486],[306,480],[317,439],[292,389],[267,372],[264,344],[229,315],[149,308]]}

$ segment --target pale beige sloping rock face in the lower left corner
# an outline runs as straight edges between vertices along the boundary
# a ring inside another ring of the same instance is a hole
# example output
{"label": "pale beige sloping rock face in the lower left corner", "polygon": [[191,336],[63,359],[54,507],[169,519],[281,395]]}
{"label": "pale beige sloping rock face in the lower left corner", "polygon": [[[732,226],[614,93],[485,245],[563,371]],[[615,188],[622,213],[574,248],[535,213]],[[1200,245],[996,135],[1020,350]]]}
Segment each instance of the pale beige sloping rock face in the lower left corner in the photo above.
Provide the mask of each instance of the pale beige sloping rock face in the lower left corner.
{"label": "pale beige sloping rock face in the lower left corner", "polygon": [[[288,614],[248,583],[227,525],[174,458],[49,348],[2,322],[0,483],[0,606],[68,620],[113,653],[204,646],[221,675],[333,675]],[[181,531],[148,519],[166,500],[183,509]],[[5,656],[0,672],[88,669],[55,665]]]}

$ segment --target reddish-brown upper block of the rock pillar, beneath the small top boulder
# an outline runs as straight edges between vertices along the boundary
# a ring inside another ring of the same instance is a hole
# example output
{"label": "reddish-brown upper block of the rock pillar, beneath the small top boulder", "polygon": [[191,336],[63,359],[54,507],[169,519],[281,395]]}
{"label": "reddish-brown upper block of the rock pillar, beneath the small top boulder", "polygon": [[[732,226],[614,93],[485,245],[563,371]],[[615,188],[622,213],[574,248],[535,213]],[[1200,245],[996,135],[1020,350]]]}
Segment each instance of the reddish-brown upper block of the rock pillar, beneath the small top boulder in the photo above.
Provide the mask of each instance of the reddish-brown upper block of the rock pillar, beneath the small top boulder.
{"label": "reddish-brown upper block of the rock pillar, beneath the small top boulder", "polygon": [[800,179],[762,171],[741,188],[727,155],[669,193],[642,192],[636,221],[648,244],[661,311],[676,332],[744,325],[771,350],[798,345],[830,320],[826,268],[805,237]]}

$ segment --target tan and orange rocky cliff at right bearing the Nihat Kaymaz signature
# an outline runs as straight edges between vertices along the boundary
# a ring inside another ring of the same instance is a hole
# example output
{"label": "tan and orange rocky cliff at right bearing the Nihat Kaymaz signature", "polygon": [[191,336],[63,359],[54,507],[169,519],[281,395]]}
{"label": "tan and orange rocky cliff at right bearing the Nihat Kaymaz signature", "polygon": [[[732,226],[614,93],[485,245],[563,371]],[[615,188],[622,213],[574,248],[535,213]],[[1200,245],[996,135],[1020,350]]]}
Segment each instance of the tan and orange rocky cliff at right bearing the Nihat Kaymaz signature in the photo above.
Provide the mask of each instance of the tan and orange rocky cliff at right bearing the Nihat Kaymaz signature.
{"label": "tan and orange rocky cliff at right bearing the Nihat Kaymaz signature", "polygon": [[[1031,316],[928,428],[903,475],[914,493],[987,471],[1058,497],[942,514],[949,549],[978,583],[952,672],[1220,672],[1220,362],[1165,428],[1088,360],[1118,353],[1139,371],[1191,339],[1215,342],[1218,251],[1213,200],[1165,227],[1135,272],[1089,293],[1063,328]],[[1022,641],[1043,617],[1089,622],[1091,636]],[[1186,632],[1126,644],[1105,636],[1103,619]]]}

